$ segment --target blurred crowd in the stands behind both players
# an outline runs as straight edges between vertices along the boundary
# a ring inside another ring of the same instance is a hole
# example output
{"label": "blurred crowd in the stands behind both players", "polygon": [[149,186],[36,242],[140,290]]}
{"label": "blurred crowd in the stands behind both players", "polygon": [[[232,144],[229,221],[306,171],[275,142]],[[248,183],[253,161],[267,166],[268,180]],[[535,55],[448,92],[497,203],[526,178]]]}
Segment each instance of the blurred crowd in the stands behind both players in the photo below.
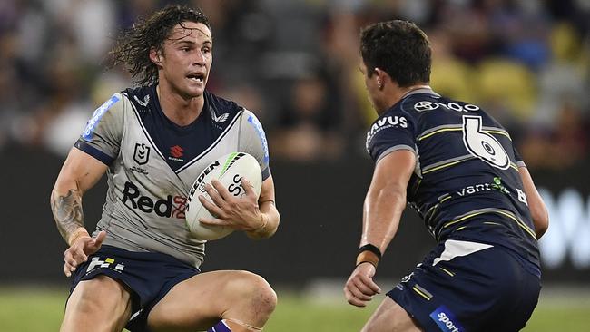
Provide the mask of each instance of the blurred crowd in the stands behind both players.
{"label": "blurred crowd in the stands behind both players", "polygon": [[[171,1],[0,1],[0,151],[64,156],[93,110],[131,85],[110,68],[114,37]],[[214,62],[208,88],[261,118],[273,159],[366,156],[376,118],[359,73],[359,28],[416,22],[433,88],[492,113],[529,167],[590,158],[590,1],[202,0]],[[1,153],[1,152],[0,152]]]}

